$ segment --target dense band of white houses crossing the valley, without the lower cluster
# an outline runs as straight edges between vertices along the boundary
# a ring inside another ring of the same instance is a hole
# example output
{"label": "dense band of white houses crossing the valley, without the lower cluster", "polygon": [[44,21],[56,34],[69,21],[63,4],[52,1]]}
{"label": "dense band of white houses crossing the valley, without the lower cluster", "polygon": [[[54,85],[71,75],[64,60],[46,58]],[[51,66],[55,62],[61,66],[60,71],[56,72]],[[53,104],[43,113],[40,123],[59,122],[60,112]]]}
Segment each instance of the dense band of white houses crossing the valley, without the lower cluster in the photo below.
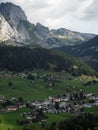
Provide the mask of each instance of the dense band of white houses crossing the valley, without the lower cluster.
{"label": "dense band of white houses crossing the valley, without the lower cluster", "polygon": [[[83,97],[82,99],[80,98]],[[77,97],[78,96],[78,97]],[[84,100],[88,98],[88,101]],[[66,95],[57,95],[57,96],[49,96],[46,100],[40,101],[19,101],[16,98],[11,98],[11,103],[6,103],[8,100],[5,100],[3,95],[0,95],[0,104],[7,104],[5,107],[0,108],[0,111],[15,111],[20,108],[29,107],[42,109],[44,113],[61,113],[61,112],[79,112],[81,108],[84,107],[97,107],[98,106],[98,95],[97,94],[66,94]],[[81,101],[81,103],[74,103],[74,101]],[[13,104],[14,102],[14,104]]]}

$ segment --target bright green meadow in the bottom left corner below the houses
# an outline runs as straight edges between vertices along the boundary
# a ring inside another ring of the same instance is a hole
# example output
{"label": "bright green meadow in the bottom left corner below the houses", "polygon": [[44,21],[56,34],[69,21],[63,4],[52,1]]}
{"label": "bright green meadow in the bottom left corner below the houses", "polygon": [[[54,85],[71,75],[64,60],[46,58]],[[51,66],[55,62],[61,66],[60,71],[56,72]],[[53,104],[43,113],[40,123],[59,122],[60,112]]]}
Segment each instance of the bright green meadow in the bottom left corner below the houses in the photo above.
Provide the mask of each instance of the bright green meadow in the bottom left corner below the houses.
{"label": "bright green meadow in the bottom left corner below the houses", "polygon": [[24,111],[29,112],[30,110],[27,108],[24,109],[19,109],[14,112],[7,112],[7,113],[2,113],[0,114],[0,130],[7,130],[10,128],[10,130],[22,130],[22,126],[17,125],[16,121],[17,119],[23,120],[23,117],[21,117],[21,113]]}

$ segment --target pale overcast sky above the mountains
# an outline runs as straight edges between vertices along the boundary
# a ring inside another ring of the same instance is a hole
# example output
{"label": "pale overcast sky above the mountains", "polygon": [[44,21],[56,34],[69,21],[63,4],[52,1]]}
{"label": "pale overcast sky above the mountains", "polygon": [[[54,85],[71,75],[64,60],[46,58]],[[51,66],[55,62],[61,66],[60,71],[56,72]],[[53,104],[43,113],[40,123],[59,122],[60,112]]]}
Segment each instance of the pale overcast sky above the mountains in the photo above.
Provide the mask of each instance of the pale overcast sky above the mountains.
{"label": "pale overcast sky above the mountains", "polygon": [[22,7],[30,22],[98,34],[98,0],[0,0]]}

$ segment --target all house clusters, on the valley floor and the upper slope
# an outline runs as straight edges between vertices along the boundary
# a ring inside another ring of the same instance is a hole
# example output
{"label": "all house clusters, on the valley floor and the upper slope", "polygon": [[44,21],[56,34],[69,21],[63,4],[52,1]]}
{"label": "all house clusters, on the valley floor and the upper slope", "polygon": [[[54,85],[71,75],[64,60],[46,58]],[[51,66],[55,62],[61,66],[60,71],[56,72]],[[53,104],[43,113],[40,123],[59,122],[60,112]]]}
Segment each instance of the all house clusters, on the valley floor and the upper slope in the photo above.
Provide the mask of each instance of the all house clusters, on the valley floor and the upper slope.
{"label": "all house clusters, on the valley floor and the upper slope", "polygon": [[[22,78],[28,77],[28,74],[25,73],[5,74],[5,77],[7,78],[11,76],[15,77],[17,75]],[[54,87],[55,84],[60,81],[60,77],[56,77],[53,75],[43,74],[42,76],[38,76],[37,73],[33,73],[33,76],[42,79],[43,82],[47,82],[48,83],[47,87],[49,89],[52,89],[52,87]],[[29,75],[29,78],[32,77],[30,77]],[[95,81],[93,81],[93,83],[94,82]],[[87,82],[86,84],[83,84],[83,86],[89,86],[91,83],[92,82]],[[0,104],[3,105],[3,107],[0,107],[0,112],[16,111],[18,109],[28,107],[30,108],[30,112],[23,112],[21,113],[21,116],[23,116],[25,120],[29,120],[29,122],[39,122],[40,124],[45,124],[47,120],[46,113],[59,114],[59,113],[71,112],[79,114],[84,111],[84,108],[98,107],[98,94],[95,95],[92,93],[84,94],[84,92],[81,89],[80,92],[78,93],[70,92],[65,95],[57,95],[53,97],[49,96],[47,99],[40,101],[36,100],[32,102],[30,101],[25,102],[25,101],[19,101],[13,97],[12,99],[10,99],[10,103],[6,102],[7,100],[5,99],[5,97],[3,95],[0,95]],[[25,120],[17,122],[20,124],[26,123]]]}

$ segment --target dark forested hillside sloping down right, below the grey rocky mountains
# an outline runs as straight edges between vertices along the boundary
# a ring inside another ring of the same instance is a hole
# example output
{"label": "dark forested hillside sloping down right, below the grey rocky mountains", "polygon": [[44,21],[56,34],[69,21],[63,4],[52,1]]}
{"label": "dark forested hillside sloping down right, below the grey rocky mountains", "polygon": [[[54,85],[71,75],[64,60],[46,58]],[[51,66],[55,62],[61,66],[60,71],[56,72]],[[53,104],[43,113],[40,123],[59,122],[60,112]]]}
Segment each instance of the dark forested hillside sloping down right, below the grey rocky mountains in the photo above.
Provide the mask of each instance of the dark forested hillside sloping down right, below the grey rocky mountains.
{"label": "dark forested hillside sloping down right, below the grey rocky mountains", "polygon": [[0,69],[24,71],[33,69],[52,69],[69,72],[75,76],[94,74],[94,70],[78,59],[63,53],[27,47],[0,47]]}

